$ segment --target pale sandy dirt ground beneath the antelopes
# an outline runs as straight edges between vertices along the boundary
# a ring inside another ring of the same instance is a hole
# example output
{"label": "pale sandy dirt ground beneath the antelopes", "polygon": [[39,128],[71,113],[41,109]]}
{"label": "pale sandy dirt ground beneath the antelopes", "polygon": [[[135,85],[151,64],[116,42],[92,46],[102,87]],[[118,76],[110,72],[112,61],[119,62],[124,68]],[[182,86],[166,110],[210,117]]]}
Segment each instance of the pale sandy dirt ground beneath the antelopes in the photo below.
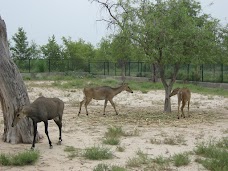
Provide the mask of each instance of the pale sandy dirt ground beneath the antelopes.
{"label": "pale sandy dirt ground beneath the antelopes", "polygon": [[[109,165],[126,166],[129,158],[136,156],[141,150],[149,157],[169,157],[177,153],[193,151],[196,144],[211,139],[220,139],[228,136],[228,98],[221,96],[201,95],[192,93],[190,104],[190,118],[177,119],[177,97],[172,97],[172,113],[163,111],[164,91],[149,91],[142,93],[134,91],[133,94],[122,92],[114,98],[119,115],[111,104],[108,103],[106,116],[103,116],[104,101],[92,100],[88,106],[89,116],[86,116],[84,106],[78,117],[79,102],[83,99],[81,89],[57,89],[50,85],[51,82],[26,82],[31,102],[37,97],[59,97],[65,102],[63,116],[62,145],[56,145],[58,141],[58,127],[53,121],[49,121],[49,136],[53,142],[53,149],[49,149],[48,140],[44,133],[43,123],[38,124],[38,131],[44,138],[36,143],[36,149],[40,151],[41,158],[33,166],[3,167],[0,170],[12,171],[92,171],[99,163]],[[185,108],[186,110],[186,108]],[[167,116],[168,115],[168,116]],[[122,127],[125,132],[134,136],[124,136],[119,146],[125,148],[124,152],[118,152],[117,146],[104,145],[105,132],[110,126]],[[0,109],[0,135],[3,134],[3,116]],[[137,132],[137,134],[135,134]],[[161,142],[165,138],[181,138],[181,144],[171,145]],[[85,149],[93,146],[104,146],[111,149],[113,159],[93,161],[83,157],[69,159],[64,151],[66,146]],[[0,152],[12,153],[30,149],[31,144],[9,144],[0,140]],[[198,171],[205,170],[203,166],[194,161],[194,155],[187,166],[174,167],[171,170]],[[143,170],[142,168],[128,168],[128,170]]]}

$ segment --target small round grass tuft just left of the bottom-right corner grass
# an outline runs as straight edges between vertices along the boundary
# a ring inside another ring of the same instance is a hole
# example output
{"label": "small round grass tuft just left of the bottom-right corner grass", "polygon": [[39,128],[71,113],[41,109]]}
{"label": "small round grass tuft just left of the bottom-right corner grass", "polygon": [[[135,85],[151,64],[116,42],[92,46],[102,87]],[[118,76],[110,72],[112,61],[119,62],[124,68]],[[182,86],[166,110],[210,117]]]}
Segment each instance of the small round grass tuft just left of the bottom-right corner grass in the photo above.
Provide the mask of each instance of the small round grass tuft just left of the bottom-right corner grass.
{"label": "small round grass tuft just left of the bottom-right corner grass", "polygon": [[187,153],[175,154],[173,157],[174,166],[186,166],[190,163],[189,155]]}

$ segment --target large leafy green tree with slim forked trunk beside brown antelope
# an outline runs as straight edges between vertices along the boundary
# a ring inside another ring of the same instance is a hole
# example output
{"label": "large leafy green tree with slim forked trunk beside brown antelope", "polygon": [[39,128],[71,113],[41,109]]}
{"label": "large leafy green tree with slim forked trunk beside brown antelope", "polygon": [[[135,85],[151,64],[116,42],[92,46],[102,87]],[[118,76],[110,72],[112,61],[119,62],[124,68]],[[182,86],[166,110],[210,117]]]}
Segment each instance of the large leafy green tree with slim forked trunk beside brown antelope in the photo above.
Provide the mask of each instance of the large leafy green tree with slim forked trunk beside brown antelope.
{"label": "large leafy green tree with slim forked trunk beside brown antelope", "polygon": [[[143,49],[159,67],[165,88],[164,111],[171,112],[169,94],[182,64],[213,61],[218,21],[203,14],[195,0],[93,0],[110,14],[105,19]],[[172,72],[166,77],[166,66]]]}

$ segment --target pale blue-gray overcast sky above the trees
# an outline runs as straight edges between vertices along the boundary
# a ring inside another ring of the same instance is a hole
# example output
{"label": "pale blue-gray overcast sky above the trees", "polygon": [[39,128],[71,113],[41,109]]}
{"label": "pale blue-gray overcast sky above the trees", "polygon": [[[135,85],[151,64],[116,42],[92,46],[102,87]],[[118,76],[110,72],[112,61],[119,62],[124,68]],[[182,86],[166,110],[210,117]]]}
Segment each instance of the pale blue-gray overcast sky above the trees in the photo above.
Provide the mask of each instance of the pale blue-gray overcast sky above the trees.
{"label": "pale blue-gray overcast sky above the trees", "polygon": [[[228,0],[199,0],[204,13],[228,23]],[[213,3],[213,5],[210,5]],[[5,20],[8,39],[22,27],[28,41],[44,45],[55,35],[61,38],[80,38],[96,46],[110,33],[107,24],[97,21],[106,15],[97,3],[89,0],[0,0],[0,16]]]}

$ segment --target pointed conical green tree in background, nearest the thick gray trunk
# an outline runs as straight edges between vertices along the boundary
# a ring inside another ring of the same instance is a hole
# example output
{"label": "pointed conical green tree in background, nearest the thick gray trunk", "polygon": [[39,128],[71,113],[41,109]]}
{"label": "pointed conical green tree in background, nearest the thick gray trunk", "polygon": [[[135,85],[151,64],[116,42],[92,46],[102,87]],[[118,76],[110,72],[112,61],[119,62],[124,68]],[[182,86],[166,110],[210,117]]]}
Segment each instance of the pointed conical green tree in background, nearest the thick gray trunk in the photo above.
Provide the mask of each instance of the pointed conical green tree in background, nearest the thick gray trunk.
{"label": "pointed conical green tree in background, nearest the thick gray trunk", "polygon": [[31,48],[27,40],[26,32],[22,27],[18,28],[18,32],[12,37],[11,55],[13,59],[29,59],[31,57]]}

